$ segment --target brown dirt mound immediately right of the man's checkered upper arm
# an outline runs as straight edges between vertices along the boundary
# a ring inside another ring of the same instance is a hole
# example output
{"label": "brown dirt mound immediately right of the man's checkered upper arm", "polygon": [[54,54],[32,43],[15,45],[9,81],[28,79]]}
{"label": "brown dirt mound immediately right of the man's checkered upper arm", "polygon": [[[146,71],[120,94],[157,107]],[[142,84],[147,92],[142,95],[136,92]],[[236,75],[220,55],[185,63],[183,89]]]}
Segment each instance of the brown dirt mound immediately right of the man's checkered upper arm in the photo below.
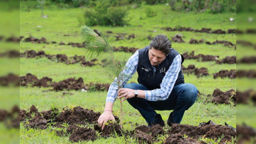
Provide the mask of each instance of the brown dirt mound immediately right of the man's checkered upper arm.
{"label": "brown dirt mound immediately right of the man's checkered upper arm", "polygon": [[182,72],[183,73],[187,73],[189,74],[194,74],[197,77],[200,76],[208,76],[208,72],[207,72],[207,68],[195,68],[195,65],[189,65],[188,68],[183,67],[183,65],[181,65],[182,68]]}

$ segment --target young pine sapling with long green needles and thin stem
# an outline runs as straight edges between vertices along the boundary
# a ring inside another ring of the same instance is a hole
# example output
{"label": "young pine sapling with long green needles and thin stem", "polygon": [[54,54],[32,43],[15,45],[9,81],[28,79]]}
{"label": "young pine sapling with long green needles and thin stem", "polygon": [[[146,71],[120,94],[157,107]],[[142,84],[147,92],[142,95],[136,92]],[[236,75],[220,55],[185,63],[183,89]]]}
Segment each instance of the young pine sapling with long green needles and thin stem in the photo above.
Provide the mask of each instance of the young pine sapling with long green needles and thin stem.
{"label": "young pine sapling with long green needles and thin stem", "polygon": [[[100,56],[103,52],[108,54],[108,59],[104,62],[106,72],[109,74],[109,79],[116,84],[118,84],[118,90],[123,85],[123,77],[124,77],[124,69],[125,63],[124,61],[119,63],[116,60],[114,55],[114,49],[110,46],[108,42],[108,37],[105,33],[101,33],[101,36],[98,36],[91,28],[88,26],[81,27],[81,34],[86,44],[86,48],[88,49],[87,57]],[[116,77],[116,80],[112,76]],[[122,100],[120,99],[121,106],[121,128],[123,126],[123,107]]]}

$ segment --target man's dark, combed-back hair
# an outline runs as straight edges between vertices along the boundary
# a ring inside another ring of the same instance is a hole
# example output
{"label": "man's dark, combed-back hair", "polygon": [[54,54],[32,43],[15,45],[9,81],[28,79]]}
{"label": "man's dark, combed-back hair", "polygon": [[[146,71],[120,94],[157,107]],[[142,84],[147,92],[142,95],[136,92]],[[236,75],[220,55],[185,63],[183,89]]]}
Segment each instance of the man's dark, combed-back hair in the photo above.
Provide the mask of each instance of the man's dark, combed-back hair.
{"label": "man's dark, combed-back hair", "polygon": [[171,51],[172,43],[166,36],[162,34],[157,35],[152,39],[152,41],[149,43],[149,49],[152,47],[165,53],[165,56],[167,56]]}

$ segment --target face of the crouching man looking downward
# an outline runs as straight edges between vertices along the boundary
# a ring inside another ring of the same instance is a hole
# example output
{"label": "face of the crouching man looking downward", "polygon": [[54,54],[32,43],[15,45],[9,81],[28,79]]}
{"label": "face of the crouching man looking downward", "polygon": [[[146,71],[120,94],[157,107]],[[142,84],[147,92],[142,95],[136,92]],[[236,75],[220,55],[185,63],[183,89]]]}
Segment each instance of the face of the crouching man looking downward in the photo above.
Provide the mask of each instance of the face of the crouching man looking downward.
{"label": "face of the crouching man looking downward", "polygon": [[165,54],[153,47],[148,50],[148,58],[152,66],[158,66],[166,58]]}

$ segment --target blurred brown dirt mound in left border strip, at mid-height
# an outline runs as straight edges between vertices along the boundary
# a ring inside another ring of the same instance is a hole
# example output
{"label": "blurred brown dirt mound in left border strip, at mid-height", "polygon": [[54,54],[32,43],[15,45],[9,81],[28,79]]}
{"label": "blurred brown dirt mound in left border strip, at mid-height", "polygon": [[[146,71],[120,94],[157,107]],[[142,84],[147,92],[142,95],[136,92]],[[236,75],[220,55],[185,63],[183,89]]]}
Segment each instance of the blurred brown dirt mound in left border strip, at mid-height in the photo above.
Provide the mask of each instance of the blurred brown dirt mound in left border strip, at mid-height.
{"label": "blurred brown dirt mound in left border strip, at mid-height", "polygon": [[0,76],[0,86],[20,86],[20,78],[12,73],[7,76]]}

